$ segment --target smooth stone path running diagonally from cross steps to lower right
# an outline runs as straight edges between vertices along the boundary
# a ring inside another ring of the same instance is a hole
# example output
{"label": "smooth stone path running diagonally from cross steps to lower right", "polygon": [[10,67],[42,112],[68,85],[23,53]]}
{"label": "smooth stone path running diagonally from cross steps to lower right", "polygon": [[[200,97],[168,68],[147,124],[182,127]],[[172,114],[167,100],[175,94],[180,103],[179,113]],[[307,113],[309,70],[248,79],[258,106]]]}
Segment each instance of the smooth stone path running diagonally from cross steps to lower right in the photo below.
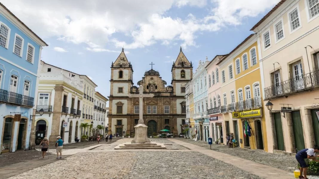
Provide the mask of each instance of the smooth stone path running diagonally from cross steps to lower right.
{"label": "smooth stone path running diagonally from cross steps to lower right", "polygon": [[179,145],[182,145],[184,147],[190,148],[193,151],[200,152],[202,154],[211,156],[215,159],[218,159],[222,162],[234,165],[237,168],[243,169],[245,171],[248,171],[249,173],[252,173],[254,175],[260,176],[265,179],[291,179],[293,178],[293,173],[289,173],[282,169],[276,169],[271,166],[262,165],[260,163],[252,162],[249,160],[245,160],[236,156],[228,155],[221,152],[216,152],[210,149],[206,149],[203,147],[199,147],[197,145],[193,145],[187,142],[183,142],[176,139],[168,139],[170,141],[173,141]]}

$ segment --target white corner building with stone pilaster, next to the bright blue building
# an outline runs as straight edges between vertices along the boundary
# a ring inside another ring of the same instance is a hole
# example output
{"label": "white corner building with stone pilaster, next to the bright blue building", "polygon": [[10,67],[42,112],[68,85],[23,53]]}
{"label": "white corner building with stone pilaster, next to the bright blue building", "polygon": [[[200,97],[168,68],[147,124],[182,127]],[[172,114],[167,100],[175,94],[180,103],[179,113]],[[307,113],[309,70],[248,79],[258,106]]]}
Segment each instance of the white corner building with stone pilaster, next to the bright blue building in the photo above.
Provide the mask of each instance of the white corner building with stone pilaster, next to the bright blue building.
{"label": "white corner building with stone pilaster, next to the bright blue building", "polygon": [[[31,143],[39,145],[44,137],[55,145],[56,137],[64,143],[80,139],[81,106],[84,80],[80,75],[41,61],[36,116]],[[40,116],[40,112],[43,115]]]}

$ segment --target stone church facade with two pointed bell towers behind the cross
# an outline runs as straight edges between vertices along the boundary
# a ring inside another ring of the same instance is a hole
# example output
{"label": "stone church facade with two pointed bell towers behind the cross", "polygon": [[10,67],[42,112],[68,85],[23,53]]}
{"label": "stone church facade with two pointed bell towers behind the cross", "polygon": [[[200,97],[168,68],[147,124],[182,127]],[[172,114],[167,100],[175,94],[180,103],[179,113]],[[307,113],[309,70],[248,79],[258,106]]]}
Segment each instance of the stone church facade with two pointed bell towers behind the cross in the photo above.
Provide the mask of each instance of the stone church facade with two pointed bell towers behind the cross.
{"label": "stone church facade with two pointed bell towers behind the cross", "polygon": [[[186,119],[185,85],[193,77],[192,63],[182,48],[171,72],[171,85],[167,85],[158,71],[150,69],[134,86],[133,67],[122,48],[121,54],[111,65],[108,134],[132,136],[140,112],[143,112],[145,125],[148,126],[148,136],[161,134],[162,129],[168,129],[174,135],[182,133]],[[138,94],[139,86],[144,87],[143,93],[154,94],[153,98],[143,99],[143,111],[139,110],[138,98],[128,97],[128,94]]]}

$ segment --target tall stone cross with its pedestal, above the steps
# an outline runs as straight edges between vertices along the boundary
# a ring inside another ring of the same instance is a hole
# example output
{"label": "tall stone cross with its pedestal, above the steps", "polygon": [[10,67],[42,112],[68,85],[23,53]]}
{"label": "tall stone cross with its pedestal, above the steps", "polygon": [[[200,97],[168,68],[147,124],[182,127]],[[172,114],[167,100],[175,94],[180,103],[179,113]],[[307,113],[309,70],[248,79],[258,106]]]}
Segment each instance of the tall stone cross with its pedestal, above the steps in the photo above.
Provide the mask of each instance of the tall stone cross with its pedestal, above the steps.
{"label": "tall stone cross with its pedestal, above the steps", "polygon": [[143,144],[151,142],[147,137],[147,126],[144,124],[143,120],[143,98],[152,98],[154,97],[154,94],[143,94],[143,86],[139,86],[139,94],[129,94],[128,97],[139,98],[139,119],[138,124],[134,126],[135,135],[131,143]]}

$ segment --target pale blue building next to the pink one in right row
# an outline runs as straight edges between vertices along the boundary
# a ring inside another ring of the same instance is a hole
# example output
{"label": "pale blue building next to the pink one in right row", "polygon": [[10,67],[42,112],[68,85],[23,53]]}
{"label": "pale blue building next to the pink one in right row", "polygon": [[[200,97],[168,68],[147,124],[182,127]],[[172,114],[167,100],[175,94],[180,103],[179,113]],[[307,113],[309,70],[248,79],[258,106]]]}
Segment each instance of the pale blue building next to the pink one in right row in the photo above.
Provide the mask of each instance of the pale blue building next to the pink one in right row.
{"label": "pale blue building next to the pink one in right row", "polygon": [[209,64],[208,58],[206,61],[199,60],[196,72],[193,74],[193,99],[194,99],[194,114],[195,132],[197,139],[208,141],[209,135],[209,119],[208,119],[208,84],[207,72],[205,67]]}

